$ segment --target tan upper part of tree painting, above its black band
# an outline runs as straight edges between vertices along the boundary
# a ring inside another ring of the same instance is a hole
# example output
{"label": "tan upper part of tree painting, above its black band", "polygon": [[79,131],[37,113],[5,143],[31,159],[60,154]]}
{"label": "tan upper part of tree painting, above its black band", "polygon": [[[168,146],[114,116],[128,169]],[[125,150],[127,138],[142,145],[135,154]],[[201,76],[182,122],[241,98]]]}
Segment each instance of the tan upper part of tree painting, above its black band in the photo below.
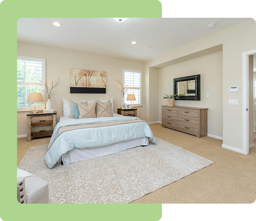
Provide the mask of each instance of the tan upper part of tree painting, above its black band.
{"label": "tan upper part of tree painting, above its black band", "polygon": [[106,88],[106,71],[71,68],[70,87]]}

